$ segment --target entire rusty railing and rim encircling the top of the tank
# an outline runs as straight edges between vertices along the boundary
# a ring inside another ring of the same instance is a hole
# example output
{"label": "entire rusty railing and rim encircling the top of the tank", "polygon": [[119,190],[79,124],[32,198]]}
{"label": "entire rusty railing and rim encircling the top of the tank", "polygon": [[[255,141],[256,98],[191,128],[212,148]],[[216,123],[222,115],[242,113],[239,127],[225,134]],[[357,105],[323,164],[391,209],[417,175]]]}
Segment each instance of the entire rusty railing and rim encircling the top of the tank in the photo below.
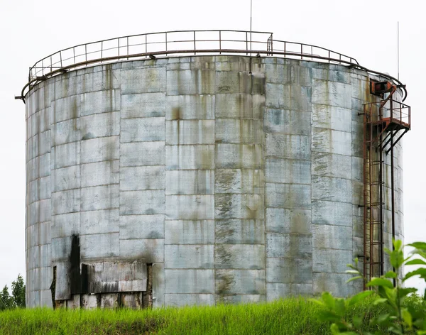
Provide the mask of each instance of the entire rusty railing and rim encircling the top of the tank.
{"label": "entire rusty railing and rim encircling the top of the tank", "polygon": [[348,55],[317,45],[275,40],[273,33],[263,31],[200,30],[163,31],[127,35],[107,40],[97,40],[59,50],[44,57],[30,67],[28,82],[21,91],[25,103],[26,94],[40,82],[93,65],[111,64],[117,60],[153,60],[163,56],[194,55],[245,55],[250,57],[283,57],[303,61],[344,65],[363,70],[391,80],[403,89],[403,100],[408,92],[405,84],[386,73],[370,70]]}

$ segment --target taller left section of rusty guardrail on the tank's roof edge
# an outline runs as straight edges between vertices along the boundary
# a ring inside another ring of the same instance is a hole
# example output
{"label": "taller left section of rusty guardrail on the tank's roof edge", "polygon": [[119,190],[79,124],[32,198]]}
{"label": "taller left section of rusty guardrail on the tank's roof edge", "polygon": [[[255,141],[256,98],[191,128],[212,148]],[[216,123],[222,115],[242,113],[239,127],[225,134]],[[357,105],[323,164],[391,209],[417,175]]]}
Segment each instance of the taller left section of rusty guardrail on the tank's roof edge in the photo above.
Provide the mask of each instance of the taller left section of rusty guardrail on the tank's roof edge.
{"label": "taller left section of rusty guardrail on the tank's roof edge", "polygon": [[244,55],[251,50],[268,49],[273,33],[261,31],[165,31],[130,35],[60,50],[36,62],[30,68],[28,80],[49,76],[55,70],[84,67],[117,59],[148,58],[160,55],[197,55],[233,50]]}

